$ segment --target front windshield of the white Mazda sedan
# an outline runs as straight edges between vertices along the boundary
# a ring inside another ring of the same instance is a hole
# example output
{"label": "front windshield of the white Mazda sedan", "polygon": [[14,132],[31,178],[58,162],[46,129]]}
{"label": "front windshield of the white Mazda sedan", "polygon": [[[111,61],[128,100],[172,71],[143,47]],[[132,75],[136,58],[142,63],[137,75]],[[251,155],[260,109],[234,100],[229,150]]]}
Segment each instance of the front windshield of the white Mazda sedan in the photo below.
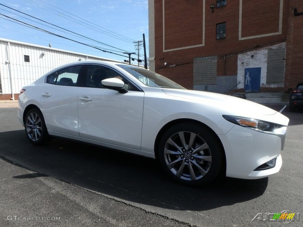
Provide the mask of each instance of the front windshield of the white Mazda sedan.
{"label": "front windshield of the white Mazda sedan", "polygon": [[157,74],[155,72],[131,66],[131,65],[118,65],[128,73],[136,77],[140,82],[145,84],[148,87],[161,87],[161,88],[175,88],[175,89],[186,89],[181,85],[177,84],[170,79]]}

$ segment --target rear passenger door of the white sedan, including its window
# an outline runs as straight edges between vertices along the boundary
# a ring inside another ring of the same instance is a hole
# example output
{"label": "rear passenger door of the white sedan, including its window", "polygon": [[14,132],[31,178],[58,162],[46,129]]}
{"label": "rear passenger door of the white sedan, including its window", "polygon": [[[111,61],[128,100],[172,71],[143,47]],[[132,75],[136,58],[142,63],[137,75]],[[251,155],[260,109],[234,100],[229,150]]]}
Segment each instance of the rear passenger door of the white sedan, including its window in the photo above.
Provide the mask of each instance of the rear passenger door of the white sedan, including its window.
{"label": "rear passenger door of the white sedan, including its window", "polygon": [[47,77],[40,102],[48,130],[79,136],[77,95],[81,68],[66,67]]}

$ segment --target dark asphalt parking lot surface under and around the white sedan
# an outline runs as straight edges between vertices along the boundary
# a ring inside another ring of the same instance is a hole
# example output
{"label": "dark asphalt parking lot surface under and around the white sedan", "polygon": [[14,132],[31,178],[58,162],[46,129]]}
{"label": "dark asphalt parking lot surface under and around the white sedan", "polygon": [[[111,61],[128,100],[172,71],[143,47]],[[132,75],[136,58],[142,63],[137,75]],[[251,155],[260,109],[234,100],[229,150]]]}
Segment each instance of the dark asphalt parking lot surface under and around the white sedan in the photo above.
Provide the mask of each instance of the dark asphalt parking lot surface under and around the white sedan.
{"label": "dark asphalt parking lot surface under and around the white sedan", "polygon": [[303,225],[302,110],[282,112],[290,123],[279,173],[205,187],[172,182],[140,156],[63,139],[33,146],[17,110],[0,108],[1,226],[284,226],[251,220],[285,210],[297,217],[289,226]]}

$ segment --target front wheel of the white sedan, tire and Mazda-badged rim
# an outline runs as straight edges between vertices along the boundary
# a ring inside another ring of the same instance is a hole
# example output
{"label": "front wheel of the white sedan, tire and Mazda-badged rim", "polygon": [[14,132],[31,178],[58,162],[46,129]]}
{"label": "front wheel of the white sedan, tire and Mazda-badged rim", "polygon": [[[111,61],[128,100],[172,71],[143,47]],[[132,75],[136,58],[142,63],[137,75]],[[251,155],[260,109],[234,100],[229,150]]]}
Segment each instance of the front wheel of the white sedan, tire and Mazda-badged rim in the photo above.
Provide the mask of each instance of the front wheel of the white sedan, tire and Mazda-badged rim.
{"label": "front wheel of the white sedan, tire and Mazda-badged rim", "polygon": [[160,140],[158,157],[169,177],[192,186],[211,182],[224,163],[224,151],[215,133],[194,123],[168,129]]}

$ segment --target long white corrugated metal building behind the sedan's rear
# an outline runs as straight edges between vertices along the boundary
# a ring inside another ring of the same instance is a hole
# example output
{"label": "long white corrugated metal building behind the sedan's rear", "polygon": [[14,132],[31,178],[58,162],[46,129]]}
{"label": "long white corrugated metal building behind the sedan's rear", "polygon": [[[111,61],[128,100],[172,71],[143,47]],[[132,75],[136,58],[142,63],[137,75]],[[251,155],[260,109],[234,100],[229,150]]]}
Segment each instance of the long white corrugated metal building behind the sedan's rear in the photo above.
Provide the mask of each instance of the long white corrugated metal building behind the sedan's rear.
{"label": "long white corrugated metal building behind the sedan's rear", "polygon": [[0,100],[17,99],[23,86],[61,65],[108,58],[0,38]]}

